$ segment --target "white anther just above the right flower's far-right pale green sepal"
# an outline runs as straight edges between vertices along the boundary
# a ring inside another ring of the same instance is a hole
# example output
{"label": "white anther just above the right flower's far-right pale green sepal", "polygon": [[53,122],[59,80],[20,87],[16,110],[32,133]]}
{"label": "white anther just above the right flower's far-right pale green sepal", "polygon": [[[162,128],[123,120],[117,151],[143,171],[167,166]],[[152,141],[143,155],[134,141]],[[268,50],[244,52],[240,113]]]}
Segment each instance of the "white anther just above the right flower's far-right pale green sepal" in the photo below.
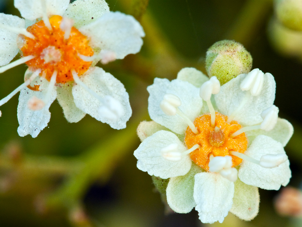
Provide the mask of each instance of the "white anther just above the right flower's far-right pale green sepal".
{"label": "white anther just above the right flower's far-right pale green sepal", "polygon": [[260,129],[265,131],[272,130],[277,123],[278,113],[279,113],[279,109],[275,105],[272,105],[266,110],[263,110],[261,113],[261,117],[263,121],[260,125]]}

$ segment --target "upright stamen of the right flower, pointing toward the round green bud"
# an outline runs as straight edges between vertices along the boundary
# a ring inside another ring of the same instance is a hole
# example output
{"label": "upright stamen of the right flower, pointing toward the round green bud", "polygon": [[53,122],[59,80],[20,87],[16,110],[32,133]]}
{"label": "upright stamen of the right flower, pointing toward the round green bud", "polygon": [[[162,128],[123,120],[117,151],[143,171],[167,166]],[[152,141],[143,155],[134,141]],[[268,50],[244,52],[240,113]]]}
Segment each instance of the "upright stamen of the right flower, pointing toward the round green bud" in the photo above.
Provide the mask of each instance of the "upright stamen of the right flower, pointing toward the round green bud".
{"label": "upright stamen of the right flower, pointing toward the round green bud", "polygon": [[211,103],[211,95],[218,94],[220,91],[220,82],[217,77],[211,77],[209,81],[203,83],[200,87],[199,95],[207,102],[211,114],[211,127],[215,127],[215,110]]}

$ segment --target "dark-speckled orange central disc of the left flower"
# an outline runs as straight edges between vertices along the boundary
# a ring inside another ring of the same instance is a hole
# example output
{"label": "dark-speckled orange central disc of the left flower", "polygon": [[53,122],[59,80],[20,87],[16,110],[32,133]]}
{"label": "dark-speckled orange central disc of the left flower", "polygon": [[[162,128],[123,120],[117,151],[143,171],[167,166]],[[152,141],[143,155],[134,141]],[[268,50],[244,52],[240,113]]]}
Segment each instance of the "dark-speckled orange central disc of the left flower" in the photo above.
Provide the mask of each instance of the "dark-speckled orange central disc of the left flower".
{"label": "dark-speckled orange central disc of the left flower", "polygon": [[56,83],[64,84],[73,81],[72,70],[79,76],[88,70],[92,61],[83,61],[79,54],[92,56],[93,50],[87,37],[74,27],[71,28],[69,38],[64,39],[65,32],[60,28],[62,19],[58,15],[49,19],[52,30],[49,30],[42,20],[28,27],[27,31],[36,38],[24,37],[20,49],[23,57],[36,56],[26,62],[31,71],[41,69],[40,76],[45,75],[48,81],[53,72],[57,71]]}

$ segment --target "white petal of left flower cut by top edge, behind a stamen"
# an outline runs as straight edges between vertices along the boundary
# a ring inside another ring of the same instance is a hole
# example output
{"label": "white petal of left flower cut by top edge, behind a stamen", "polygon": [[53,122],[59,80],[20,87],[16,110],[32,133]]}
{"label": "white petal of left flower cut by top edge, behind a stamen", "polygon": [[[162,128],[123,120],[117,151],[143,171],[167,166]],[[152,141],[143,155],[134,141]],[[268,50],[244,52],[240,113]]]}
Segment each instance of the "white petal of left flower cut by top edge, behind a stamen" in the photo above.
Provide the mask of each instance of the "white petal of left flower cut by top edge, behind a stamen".
{"label": "white petal of left flower cut by top edge, behind a stamen", "polygon": [[[45,8],[42,1],[45,1]],[[14,6],[20,11],[21,16],[28,20],[43,17],[45,13],[47,16],[62,16],[68,5],[69,0],[14,0]]]}

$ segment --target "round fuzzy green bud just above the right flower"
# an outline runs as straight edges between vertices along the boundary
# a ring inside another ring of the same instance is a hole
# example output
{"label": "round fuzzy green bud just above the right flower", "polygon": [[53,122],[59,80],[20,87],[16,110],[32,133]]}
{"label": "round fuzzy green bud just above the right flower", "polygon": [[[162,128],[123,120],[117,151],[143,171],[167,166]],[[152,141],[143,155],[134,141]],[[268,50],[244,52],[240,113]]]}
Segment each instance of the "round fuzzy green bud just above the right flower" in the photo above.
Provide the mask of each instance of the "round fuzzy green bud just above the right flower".
{"label": "round fuzzy green bud just above the right flower", "polygon": [[207,74],[209,77],[216,76],[221,85],[239,74],[248,73],[251,68],[251,54],[236,41],[218,41],[207,51]]}

